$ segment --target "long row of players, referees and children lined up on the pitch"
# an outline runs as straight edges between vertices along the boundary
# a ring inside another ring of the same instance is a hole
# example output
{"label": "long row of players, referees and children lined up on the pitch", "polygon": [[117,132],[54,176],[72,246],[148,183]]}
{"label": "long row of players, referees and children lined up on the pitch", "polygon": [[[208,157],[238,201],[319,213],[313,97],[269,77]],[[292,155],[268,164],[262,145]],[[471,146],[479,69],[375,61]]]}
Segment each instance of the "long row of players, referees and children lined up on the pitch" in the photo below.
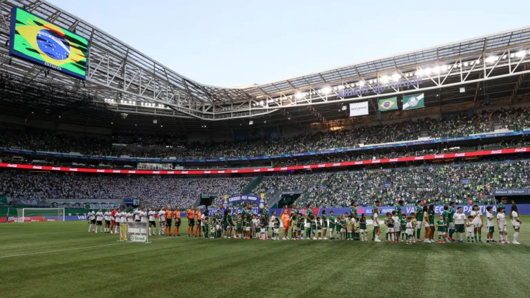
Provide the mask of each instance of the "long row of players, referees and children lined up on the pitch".
{"label": "long row of players, referees and children lined up on the pitch", "polygon": [[[505,206],[507,198],[503,197],[501,202],[497,206],[497,225],[499,228],[499,241],[501,243],[509,243],[507,237],[507,225]],[[282,215],[282,224],[284,227],[282,239],[304,239],[304,230],[306,239],[327,239],[327,232],[329,232],[330,239],[334,239],[333,233],[336,231],[338,239],[351,239],[368,241],[368,230],[366,228],[366,217],[361,215],[357,217],[357,203],[351,201],[350,210],[351,215],[341,215],[340,217],[333,216],[333,211],[330,212],[330,216],[327,216],[326,210],[322,211],[322,217],[314,217],[313,210],[311,210],[311,204],[307,206],[306,216],[307,219],[302,218],[302,213],[293,204],[291,208],[291,214],[288,214],[287,210],[284,210]],[[380,201],[375,201],[373,206],[373,237],[372,240],[380,242],[380,225],[386,225],[386,240],[388,242],[404,241],[407,239],[408,244],[413,244],[415,241],[423,241],[424,243],[433,243],[434,240],[434,229],[437,227],[438,231],[438,242],[446,243],[457,242],[462,243],[464,232],[467,235],[468,242],[482,243],[482,226],[484,226],[484,219],[482,212],[479,210],[478,205],[474,205],[471,214],[466,218],[463,214],[462,208],[459,207],[456,212],[454,210],[455,203],[451,202],[448,206],[444,206],[442,215],[439,216],[438,221],[435,225],[435,212],[434,206],[424,206],[423,201],[418,201],[416,206],[416,212],[412,212],[411,215],[406,216],[402,213],[401,208],[403,207],[403,201],[399,200],[395,210],[393,212],[387,212],[386,217],[382,220],[379,219],[379,207]],[[230,209],[223,208],[221,206],[214,214],[213,217],[208,217],[208,211],[202,212],[201,208],[194,210],[190,207],[186,212],[188,218],[188,237],[204,237],[206,238],[269,238],[269,227],[273,228],[272,239],[279,239],[279,218],[275,212],[271,217],[268,210],[268,205],[264,206],[260,210],[259,215],[254,215],[251,206],[246,206],[242,213],[239,215],[232,215]],[[401,214],[401,217],[399,215]],[[88,232],[97,232],[97,226],[99,226],[100,232],[112,233],[114,230],[115,234],[121,232],[119,230],[120,223],[126,223],[131,221],[146,222],[147,218],[149,221],[149,235],[156,234],[156,222],[155,217],[159,217],[159,229],[158,235],[179,237],[179,227],[181,225],[181,212],[179,208],[171,210],[170,206],[167,208],[161,208],[159,212],[155,211],[155,208],[151,208],[149,212],[146,208],[133,210],[119,210],[114,208],[112,212],[107,209],[106,212],[102,212],[99,209],[98,212],[90,210],[88,213],[88,220],[90,227]],[[493,217],[493,208],[487,207],[487,242],[496,242],[493,240],[493,232],[495,230],[495,218]],[[519,218],[518,208],[515,204],[511,207],[509,215],[511,224],[515,230],[513,234],[513,244],[519,244],[517,241],[520,225],[522,221]],[[105,228],[102,230],[102,221],[105,219]],[[173,225],[173,219],[175,219],[175,227],[173,233],[171,226]],[[424,239],[420,238],[422,226],[425,228]],[[195,231],[194,231],[195,227]],[[92,230],[93,229],[93,230]],[[291,237],[288,237],[288,232],[291,230]],[[416,231],[416,233],[414,232]],[[210,237],[208,237],[208,233]],[[456,233],[457,239],[453,239],[453,234]],[[313,237],[311,237],[313,236]],[[478,238],[477,238],[478,237]],[[415,240],[417,239],[417,240]]]}

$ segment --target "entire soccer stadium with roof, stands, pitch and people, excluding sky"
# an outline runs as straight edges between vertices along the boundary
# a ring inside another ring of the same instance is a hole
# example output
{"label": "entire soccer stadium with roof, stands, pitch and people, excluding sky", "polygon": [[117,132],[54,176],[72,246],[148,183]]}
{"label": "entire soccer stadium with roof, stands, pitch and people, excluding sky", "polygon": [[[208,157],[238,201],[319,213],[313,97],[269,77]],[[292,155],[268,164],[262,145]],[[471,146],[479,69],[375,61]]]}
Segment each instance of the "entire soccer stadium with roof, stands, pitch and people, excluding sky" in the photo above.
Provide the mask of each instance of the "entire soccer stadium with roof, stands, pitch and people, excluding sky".
{"label": "entire soccer stadium with roof, stands, pitch and people, excluding sky", "polygon": [[1,297],[528,297],[530,27],[224,88],[0,12]]}

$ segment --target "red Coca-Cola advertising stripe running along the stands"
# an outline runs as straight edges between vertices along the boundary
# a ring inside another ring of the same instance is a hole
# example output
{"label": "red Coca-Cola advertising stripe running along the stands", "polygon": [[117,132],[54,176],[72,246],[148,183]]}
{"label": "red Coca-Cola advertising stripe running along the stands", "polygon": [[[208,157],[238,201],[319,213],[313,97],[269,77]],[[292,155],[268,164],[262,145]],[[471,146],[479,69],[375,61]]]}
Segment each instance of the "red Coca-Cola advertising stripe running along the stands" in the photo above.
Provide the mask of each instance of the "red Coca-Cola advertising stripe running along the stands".
{"label": "red Coca-Cola advertising stripe running along the stands", "polygon": [[340,166],[356,166],[373,163],[392,163],[402,161],[418,161],[418,160],[431,160],[431,159],[452,159],[459,157],[479,157],[486,155],[499,155],[509,154],[518,152],[530,152],[530,147],[524,148],[510,148],[502,150],[487,150],[487,151],[475,151],[475,152],[463,152],[463,153],[448,153],[442,155],[423,155],[416,157],[398,157],[393,159],[372,159],[364,161],[345,161],[342,163],[319,163],[307,166],[288,166],[281,168],[237,168],[228,170],[106,170],[106,169],[92,169],[92,168],[63,168],[63,167],[52,167],[52,166],[32,166],[18,163],[0,163],[0,168],[21,168],[28,170],[52,170],[61,172],[95,172],[95,173],[107,173],[107,174],[143,174],[143,175],[208,175],[208,174],[233,174],[233,173],[249,173],[249,172],[280,172],[286,170],[304,170],[313,168],[335,168]]}

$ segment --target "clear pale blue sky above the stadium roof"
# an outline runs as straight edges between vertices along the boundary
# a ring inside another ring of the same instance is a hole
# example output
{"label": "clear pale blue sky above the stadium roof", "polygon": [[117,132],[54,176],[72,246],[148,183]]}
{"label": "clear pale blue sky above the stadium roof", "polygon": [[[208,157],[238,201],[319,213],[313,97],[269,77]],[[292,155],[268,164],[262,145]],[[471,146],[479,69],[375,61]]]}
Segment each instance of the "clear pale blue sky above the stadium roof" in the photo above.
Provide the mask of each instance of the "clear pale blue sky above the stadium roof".
{"label": "clear pale blue sky above the stadium roof", "polygon": [[190,79],[224,87],[530,25],[522,0],[50,2]]}

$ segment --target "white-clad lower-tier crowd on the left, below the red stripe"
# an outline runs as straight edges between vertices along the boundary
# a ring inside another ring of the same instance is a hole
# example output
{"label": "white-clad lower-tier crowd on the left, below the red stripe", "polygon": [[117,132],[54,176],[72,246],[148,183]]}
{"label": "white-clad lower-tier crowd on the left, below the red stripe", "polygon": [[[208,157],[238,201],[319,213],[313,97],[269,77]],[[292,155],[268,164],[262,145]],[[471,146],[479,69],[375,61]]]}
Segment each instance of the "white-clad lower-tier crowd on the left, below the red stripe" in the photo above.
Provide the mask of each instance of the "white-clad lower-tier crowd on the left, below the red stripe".
{"label": "white-clad lower-tier crowd on the left, below the red stripe", "polygon": [[0,197],[12,199],[141,199],[146,206],[193,206],[199,195],[239,194],[251,179],[0,174]]}

